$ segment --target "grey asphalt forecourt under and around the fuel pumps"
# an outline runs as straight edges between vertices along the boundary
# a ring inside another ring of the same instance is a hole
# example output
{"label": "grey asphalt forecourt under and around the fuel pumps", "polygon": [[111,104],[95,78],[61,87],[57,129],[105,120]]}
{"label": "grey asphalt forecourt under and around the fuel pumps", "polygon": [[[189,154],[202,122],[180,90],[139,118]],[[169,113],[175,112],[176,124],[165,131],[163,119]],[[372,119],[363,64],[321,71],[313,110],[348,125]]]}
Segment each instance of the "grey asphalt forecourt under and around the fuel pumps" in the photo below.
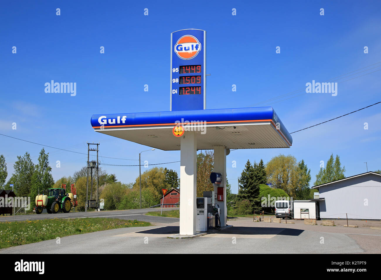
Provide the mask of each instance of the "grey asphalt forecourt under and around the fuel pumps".
{"label": "grey asphalt forecourt under and around the fuel pumps", "polygon": [[[149,217],[149,216],[146,216]],[[151,216],[155,222],[160,218]],[[0,250],[0,254],[70,253],[299,253],[346,254],[379,253],[379,230],[228,221],[232,228],[191,239],[170,239],[178,233],[178,219],[152,227],[129,227],[71,235]],[[176,221],[177,220],[177,221]],[[176,221],[176,222],[173,222]]]}

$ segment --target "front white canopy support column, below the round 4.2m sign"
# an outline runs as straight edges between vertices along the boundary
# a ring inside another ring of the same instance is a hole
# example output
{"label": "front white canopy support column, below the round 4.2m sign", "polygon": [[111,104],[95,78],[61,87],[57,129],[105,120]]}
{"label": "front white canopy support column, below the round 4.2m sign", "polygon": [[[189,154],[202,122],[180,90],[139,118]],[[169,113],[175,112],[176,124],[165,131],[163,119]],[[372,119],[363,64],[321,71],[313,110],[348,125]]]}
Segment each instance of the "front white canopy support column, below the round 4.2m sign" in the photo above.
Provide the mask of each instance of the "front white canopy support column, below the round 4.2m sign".
{"label": "front white canopy support column, below the round 4.2m sign", "polygon": [[180,154],[180,234],[196,233],[197,138],[195,131],[181,136]]}

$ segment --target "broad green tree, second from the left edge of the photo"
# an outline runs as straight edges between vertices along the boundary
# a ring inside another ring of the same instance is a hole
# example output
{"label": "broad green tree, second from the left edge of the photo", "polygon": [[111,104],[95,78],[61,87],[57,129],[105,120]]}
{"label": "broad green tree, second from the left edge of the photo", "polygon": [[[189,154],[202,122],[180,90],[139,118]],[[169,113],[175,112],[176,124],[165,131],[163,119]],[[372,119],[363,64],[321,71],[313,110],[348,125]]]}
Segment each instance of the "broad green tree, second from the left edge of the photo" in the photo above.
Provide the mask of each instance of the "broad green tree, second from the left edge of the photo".
{"label": "broad green tree, second from the left edge of the photo", "polygon": [[14,184],[14,192],[19,197],[27,197],[30,193],[34,164],[30,159],[30,154],[25,152],[24,156],[17,156],[17,161],[13,165],[14,173],[8,184]]}

